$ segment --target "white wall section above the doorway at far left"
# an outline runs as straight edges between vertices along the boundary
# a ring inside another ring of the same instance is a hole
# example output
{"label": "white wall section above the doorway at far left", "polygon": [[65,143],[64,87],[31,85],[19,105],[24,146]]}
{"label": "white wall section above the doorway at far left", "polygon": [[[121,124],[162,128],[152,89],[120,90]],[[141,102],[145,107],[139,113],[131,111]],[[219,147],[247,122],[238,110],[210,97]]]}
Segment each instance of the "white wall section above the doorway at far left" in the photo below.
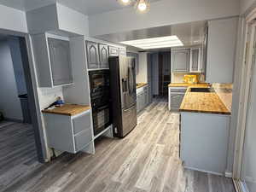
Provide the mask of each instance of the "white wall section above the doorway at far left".
{"label": "white wall section above the doorway at far left", "polygon": [[15,32],[27,32],[24,11],[0,5],[0,29]]}

